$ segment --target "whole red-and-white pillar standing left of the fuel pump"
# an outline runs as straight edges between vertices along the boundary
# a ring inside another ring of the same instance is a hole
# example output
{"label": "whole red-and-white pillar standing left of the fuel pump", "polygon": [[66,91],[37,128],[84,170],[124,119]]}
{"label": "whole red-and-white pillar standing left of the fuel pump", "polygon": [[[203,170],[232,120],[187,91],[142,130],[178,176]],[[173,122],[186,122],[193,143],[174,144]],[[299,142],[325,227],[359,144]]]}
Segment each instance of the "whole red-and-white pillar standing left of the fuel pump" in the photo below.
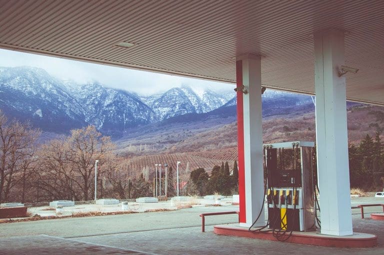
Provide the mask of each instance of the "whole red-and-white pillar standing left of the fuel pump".
{"label": "whole red-and-white pillar standing left of the fuel pump", "polygon": [[236,75],[240,226],[257,220],[253,226],[260,227],[265,225],[260,56],[238,56]]}

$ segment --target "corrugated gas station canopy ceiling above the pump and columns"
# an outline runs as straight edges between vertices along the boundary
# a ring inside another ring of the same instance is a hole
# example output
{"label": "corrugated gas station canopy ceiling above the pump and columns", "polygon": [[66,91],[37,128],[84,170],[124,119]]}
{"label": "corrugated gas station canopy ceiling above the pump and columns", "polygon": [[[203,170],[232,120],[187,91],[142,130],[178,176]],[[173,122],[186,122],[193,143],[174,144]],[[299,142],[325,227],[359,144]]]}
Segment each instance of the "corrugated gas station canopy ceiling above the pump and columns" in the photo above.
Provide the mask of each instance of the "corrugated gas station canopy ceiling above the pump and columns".
{"label": "corrugated gas station canopy ceiling above the pump and columns", "polygon": [[[261,55],[261,83],[314,94],[313,34],[345,33],[347,99],[384,105],[384,4],[350,1],[0,0],[0,47],[234,83]],[[334,67],[339,68],[339,67]]]}

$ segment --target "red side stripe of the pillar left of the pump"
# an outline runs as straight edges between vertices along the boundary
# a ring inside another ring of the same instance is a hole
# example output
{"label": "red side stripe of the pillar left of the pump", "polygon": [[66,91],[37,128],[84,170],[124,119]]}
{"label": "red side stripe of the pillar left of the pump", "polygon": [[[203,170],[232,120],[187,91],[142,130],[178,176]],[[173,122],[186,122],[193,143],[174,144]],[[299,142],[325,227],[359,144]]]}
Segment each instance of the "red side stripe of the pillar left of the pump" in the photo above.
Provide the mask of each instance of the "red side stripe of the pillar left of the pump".
{"label": "red side stripe of the pillar left of the pump", "polygon": [[[236,87],[242,84],[242,60],[236,61]],[[244,174],[244,117],[241,89],[237,90],[237,152],[238,152],[238,195],[240,223],[245,223],[245,174]]]}

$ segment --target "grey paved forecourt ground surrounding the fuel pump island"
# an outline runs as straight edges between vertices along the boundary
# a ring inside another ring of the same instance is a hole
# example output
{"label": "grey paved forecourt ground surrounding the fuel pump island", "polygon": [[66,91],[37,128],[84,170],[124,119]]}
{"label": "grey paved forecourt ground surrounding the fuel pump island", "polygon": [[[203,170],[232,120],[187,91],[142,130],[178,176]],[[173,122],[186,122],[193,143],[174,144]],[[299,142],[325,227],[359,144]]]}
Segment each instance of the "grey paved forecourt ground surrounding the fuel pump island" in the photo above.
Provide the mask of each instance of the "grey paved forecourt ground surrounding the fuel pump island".
{"label": "grey paved forecourt ground surrounding the fuel pump island", "polygon": [[[190,208],[171,212],[69,218],[0,224],[0,255],[13,254],[270,254],[295,251],[303,254],[382,254],[384,222],[360,219],[353,209],[355,232],[378,237],[377,247],[340,249],[217,236],[214,224],[233,223],[237,215],[211,216],[201,233],[204,212],[233,211],[236,207]],[[372,212],[379,209],[372,209]],[[48,235],[48,236],[40,236]],[[64,239],[65,238],[65,239]]]}

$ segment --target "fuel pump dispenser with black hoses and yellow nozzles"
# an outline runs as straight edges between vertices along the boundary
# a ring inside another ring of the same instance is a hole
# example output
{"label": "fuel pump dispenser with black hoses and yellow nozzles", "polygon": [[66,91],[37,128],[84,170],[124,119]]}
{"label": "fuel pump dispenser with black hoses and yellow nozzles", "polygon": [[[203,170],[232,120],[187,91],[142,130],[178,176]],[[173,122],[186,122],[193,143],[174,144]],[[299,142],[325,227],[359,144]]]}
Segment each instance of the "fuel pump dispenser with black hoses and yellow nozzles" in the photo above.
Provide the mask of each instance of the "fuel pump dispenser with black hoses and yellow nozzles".
{"label": "fuel pump dispenser with black hoses and yellow nozzles", "polygon": [[313,142],[264,144],[269,229],[315,231]]}

